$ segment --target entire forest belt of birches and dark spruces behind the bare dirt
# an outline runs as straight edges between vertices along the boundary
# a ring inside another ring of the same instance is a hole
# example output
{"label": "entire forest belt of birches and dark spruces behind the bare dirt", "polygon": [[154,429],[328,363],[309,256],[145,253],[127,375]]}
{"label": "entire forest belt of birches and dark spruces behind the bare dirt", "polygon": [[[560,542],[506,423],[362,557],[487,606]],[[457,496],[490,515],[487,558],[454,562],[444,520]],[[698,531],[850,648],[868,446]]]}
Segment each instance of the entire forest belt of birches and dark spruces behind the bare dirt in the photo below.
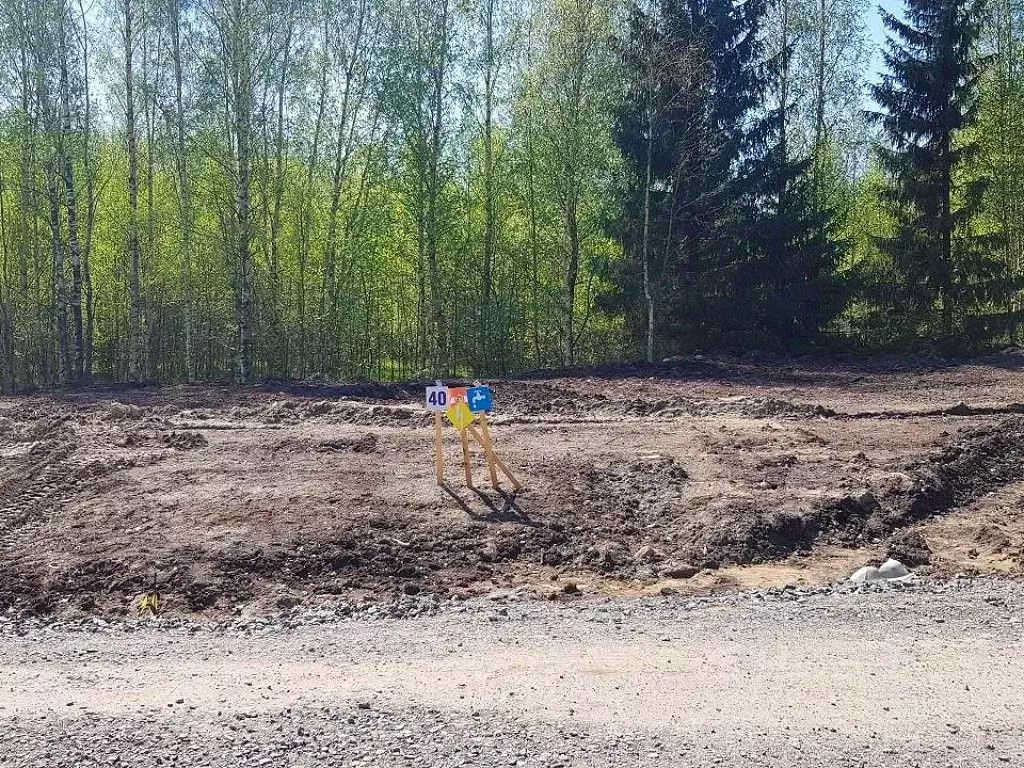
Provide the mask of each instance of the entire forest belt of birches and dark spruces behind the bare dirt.
{"label": "entire forest belt of birches and dark spruces behind the bare dirt", "polygon": [[0,390],[1011,340],[979,2],[886,16],[867,168],[862,0],[0,4]]}

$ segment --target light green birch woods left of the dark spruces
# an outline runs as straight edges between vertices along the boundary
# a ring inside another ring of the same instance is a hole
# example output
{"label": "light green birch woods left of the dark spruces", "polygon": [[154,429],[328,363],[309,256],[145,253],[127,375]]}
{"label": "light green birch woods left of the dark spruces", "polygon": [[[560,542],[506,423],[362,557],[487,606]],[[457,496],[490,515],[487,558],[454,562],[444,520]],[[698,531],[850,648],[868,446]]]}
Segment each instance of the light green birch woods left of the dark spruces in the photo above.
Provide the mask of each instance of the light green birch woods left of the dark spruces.
{"label": "light green birch woods left of the dark spruces", "polygon": [[[175,28],[175,0],[167,0],[137,7],[130,51],[118,37],[123,5],[57,14],[79,26],[76,35],[34,39],[33,51],[69,54],[76,78],[90,60],[93,100],[78,90],[71,123],[53,127],[44,125],[42,102],[19,114],[17,79],[31,81],[30,70],[15,68],[6,83],[0,179],[24,171],[31,183],[0,187],[0,223],[10,232],[0,274],[0,387],[60,375],[58,331],[69,321],[53,307],[71,306],[71,271],[67,260],[56,269],[55,249],[68,251],[68,190],[50,196],[61,215],[54,240],[46,187],[47,163],[58,152],[76,171],[83,209],[76,231],[88,243],[82,306],[92,315],[90,373],[128,376],[126,55],[137,78],[145,378],[236,375],[243,323],[254,336],[254,377],[505,373],[561,361],[566,333],[580,361],[615,356],[621,324],[597,308],[620,254],[604,234],[615,167],[602,119],[612,82],[611,11],[589,6],[538,6],[536,55],[518,81],[510,68],[519,65],[504,50],[486,178],[484,136],[464,109],[482,67],[464,37],[481,15],[466,4],[200,0],[181,3]],[[245,34],[220,36],[234,28]],[[195,51],[180,61],[180,103],[175,29]],[[98,36],[103,44],[88,54],[94,60],[73,50]],[[17,41],[4,44],[16,59]],[[566,100],[562,86],[573,78]],[[98,90],[111,94],[113,123],[97,115]],[[248,121],[252,152],[245,189],[240,120]],[[238,250],[243,193],[251,287]],[[579,250],[566,304],[569,200]],[[486,276],[485,205],[497,222]]]}

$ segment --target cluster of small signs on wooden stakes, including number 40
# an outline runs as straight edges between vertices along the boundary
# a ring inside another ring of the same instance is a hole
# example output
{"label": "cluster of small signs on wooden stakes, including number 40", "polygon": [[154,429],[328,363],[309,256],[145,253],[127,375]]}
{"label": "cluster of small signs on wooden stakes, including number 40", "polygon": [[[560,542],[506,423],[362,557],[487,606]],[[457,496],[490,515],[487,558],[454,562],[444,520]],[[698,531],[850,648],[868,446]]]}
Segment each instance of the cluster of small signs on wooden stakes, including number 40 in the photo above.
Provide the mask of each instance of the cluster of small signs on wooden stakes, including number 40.
{"label": "cluster of small signs on wooden stakes, including number 40", "polygon": [[[469,487],[475,487],[470,467],[470,437],[483,450],[492,485],[501,486],[498,480],[498,471],[501,470],[513,487],[517,490],[522,487],[505,462],[499,459],[495,453],[495,445],[490,438],[490,427],[487,424],[487,413],[494,410],[494,396],[489,387],[479,384],[473,387],[447,387],[438,381],[426,388],[424,406],[427,411],[434,414],[434,451],[438,485],[444,484],[444,427],[441,418],[441,414],[444,414],[452,426],[459,431],[463,468],[466,472],[466,484]],[[479,428],[474,423],[477,418],[479,419]]]}

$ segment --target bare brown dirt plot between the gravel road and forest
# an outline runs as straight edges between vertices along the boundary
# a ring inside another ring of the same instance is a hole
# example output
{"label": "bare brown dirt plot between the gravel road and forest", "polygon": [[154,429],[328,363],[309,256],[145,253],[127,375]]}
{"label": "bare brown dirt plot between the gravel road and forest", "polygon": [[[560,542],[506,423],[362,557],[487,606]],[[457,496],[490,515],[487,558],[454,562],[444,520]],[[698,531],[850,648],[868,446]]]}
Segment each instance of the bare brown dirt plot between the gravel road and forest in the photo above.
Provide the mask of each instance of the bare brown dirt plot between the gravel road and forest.
{"label": "bare brown dirt plot between the gravel road and forest", "polygon": [[0,612],[1020,574],[1024,357],[688,357],[489,382],[522,480],[434,481],[425,382],[0,398]]}

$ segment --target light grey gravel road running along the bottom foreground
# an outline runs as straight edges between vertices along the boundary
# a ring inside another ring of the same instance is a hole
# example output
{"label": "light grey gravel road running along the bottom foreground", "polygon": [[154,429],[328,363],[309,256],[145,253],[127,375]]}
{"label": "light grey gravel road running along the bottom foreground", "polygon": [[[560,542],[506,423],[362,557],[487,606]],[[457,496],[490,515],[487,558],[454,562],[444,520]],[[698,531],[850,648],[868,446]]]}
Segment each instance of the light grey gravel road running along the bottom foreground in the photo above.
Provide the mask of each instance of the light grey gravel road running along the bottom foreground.
{"label": "light grey gravel road running along the bottom foreground", "polygon": [[0,766],[1021,766],[1024,584],[0,618]]}

